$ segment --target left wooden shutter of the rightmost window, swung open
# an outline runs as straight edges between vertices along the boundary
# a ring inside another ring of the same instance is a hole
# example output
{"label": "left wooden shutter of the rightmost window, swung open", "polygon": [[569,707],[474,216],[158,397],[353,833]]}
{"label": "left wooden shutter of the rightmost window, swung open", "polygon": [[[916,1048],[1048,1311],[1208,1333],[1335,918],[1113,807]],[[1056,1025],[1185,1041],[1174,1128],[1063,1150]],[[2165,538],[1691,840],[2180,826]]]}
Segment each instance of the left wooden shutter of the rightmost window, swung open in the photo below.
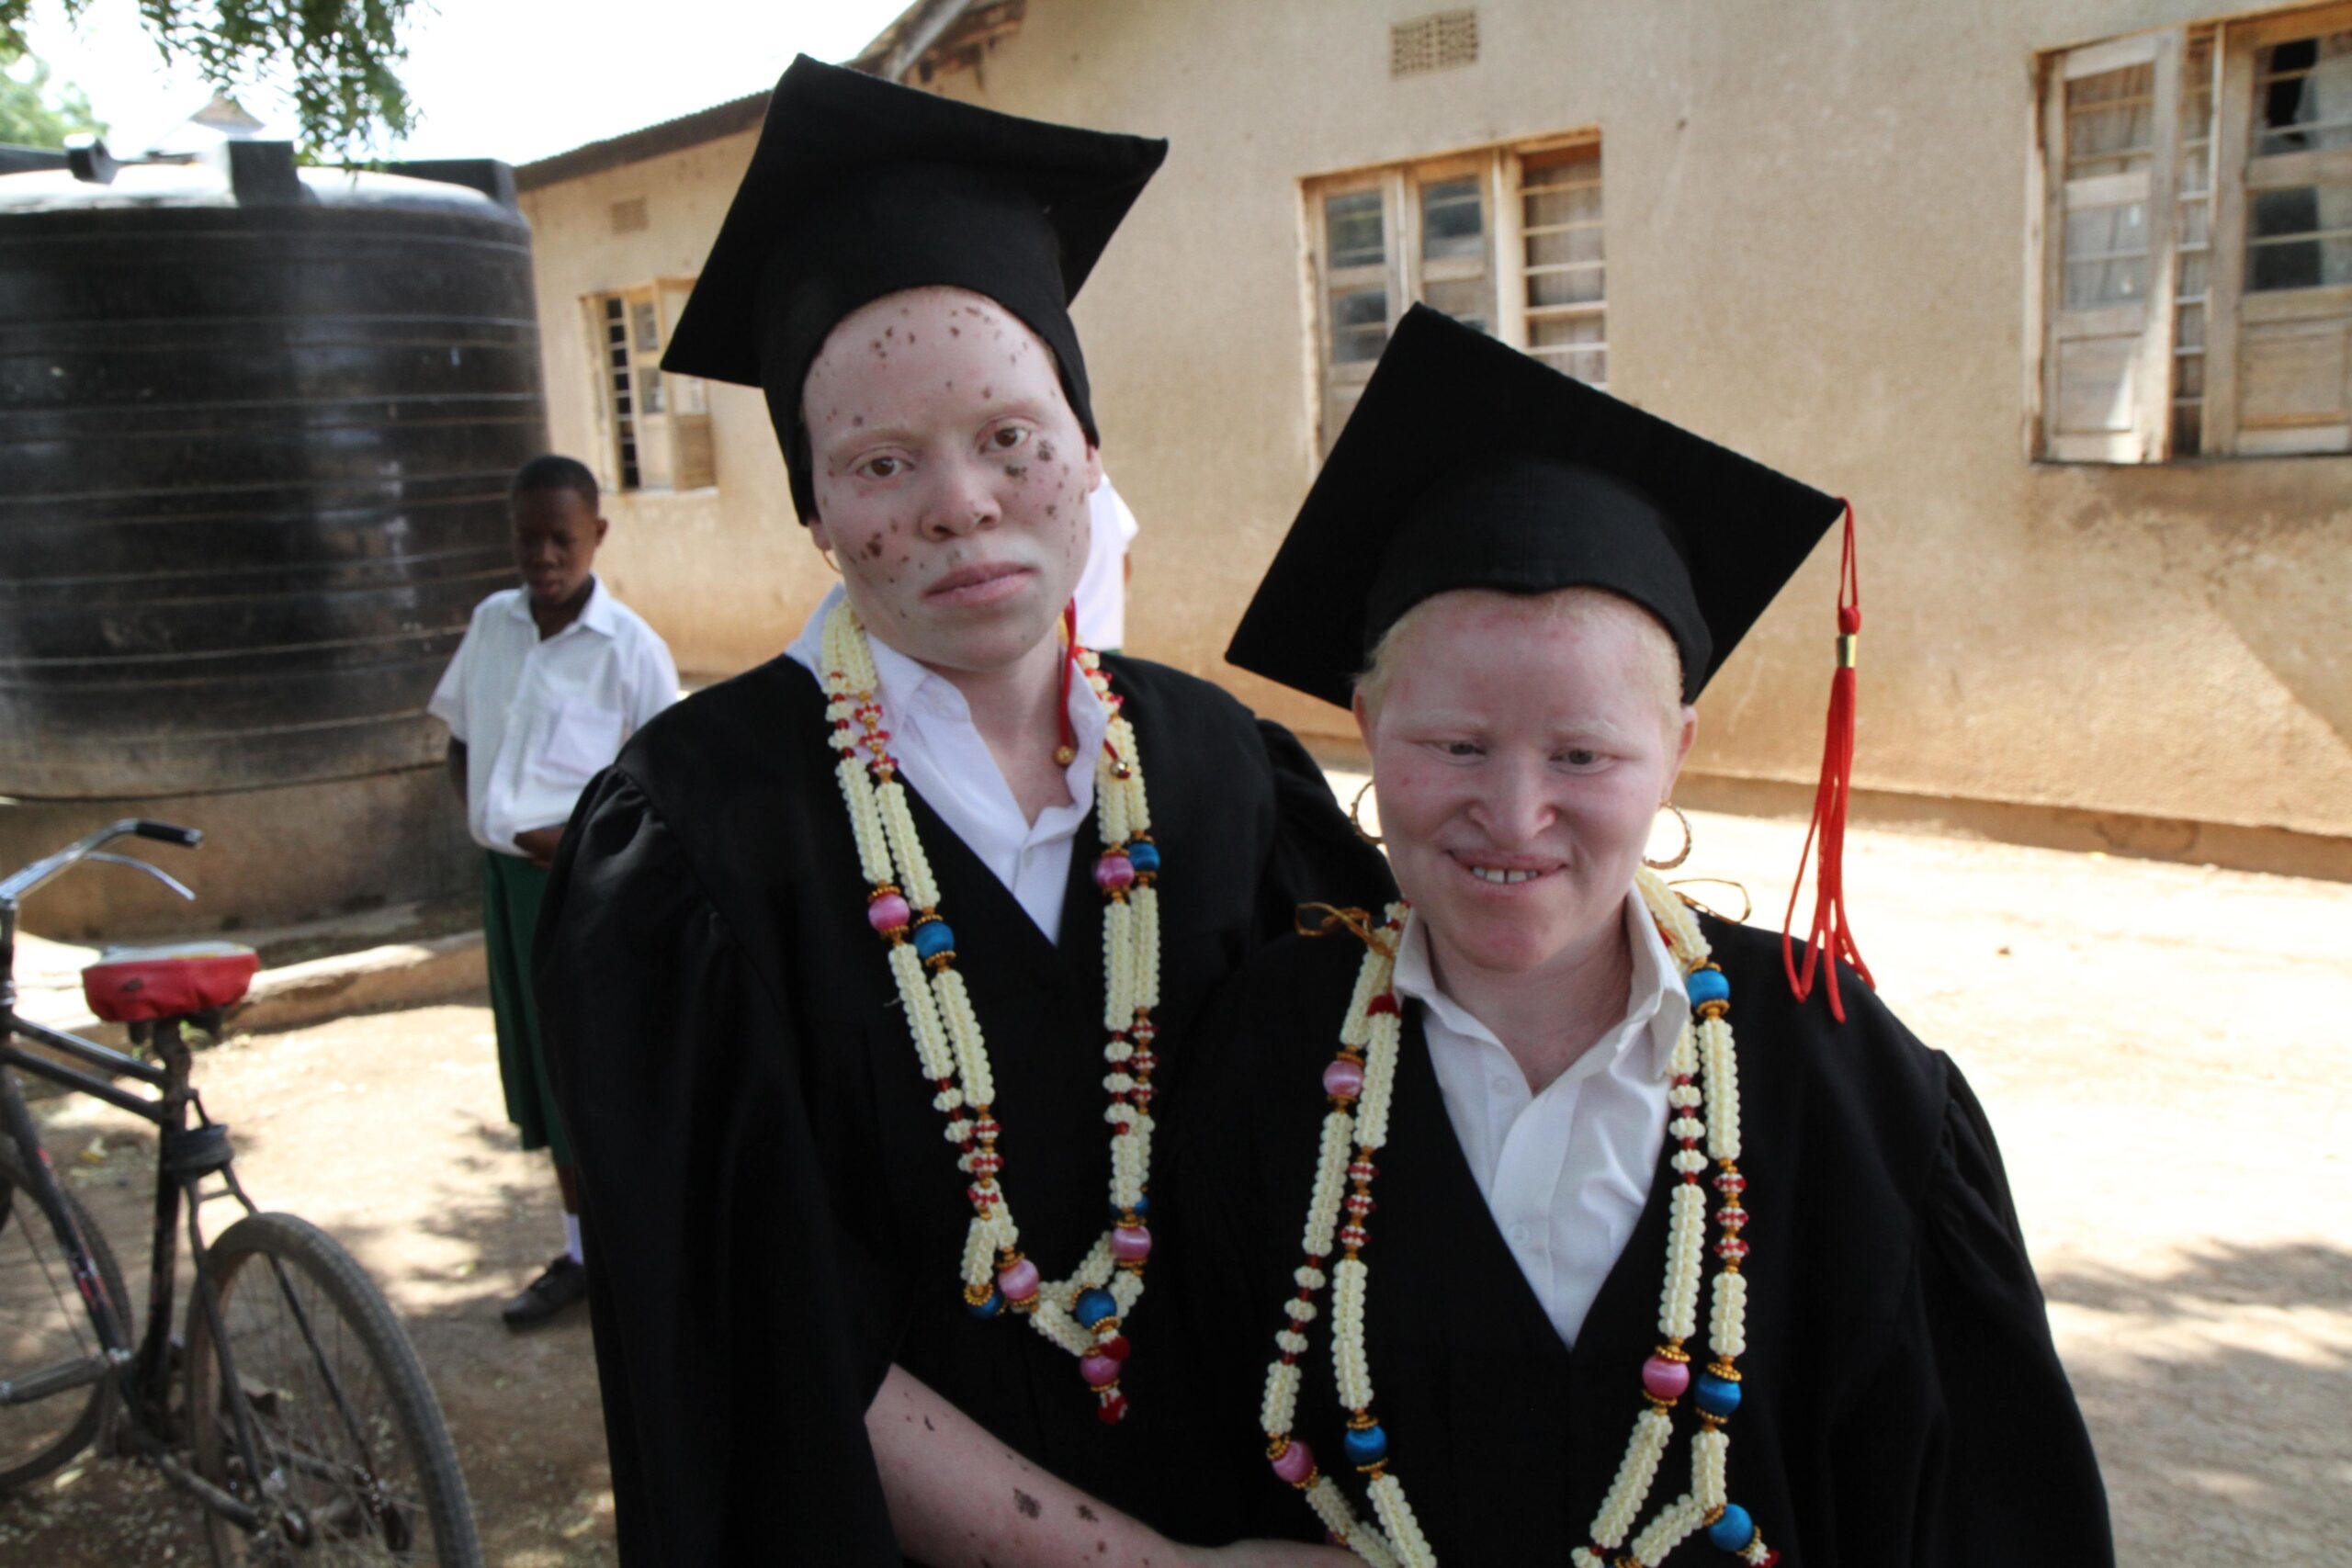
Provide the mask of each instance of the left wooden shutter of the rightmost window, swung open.
{"label": "left wooden shutter of the rightmost window, swung open", "polygon": [[2157,463],[2171,451],[2180,35],[2060,56],[2042,125],[2042,454]]}

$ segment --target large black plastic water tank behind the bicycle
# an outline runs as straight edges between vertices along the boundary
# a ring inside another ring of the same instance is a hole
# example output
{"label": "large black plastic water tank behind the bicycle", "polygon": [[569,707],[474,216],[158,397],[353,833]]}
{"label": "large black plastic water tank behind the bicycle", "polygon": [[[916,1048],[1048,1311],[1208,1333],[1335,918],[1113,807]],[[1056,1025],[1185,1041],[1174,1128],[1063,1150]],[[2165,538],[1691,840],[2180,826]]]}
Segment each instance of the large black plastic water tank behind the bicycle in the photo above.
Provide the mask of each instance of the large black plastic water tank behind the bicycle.
{"label": "large black plastic water tank behind the bicycle", "polygon": [[78,172],[0,176],[0,795],[435,762],[546,444],[503,165]]}

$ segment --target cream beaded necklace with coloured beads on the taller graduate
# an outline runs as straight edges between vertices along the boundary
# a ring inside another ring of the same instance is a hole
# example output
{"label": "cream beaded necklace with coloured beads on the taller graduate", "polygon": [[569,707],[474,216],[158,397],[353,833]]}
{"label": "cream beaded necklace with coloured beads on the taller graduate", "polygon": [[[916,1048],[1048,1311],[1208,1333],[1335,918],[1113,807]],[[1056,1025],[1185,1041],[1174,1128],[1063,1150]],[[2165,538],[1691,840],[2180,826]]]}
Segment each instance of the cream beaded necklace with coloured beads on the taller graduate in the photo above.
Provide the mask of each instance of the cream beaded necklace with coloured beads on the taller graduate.
{"label": "cream beaded necklace with coloured beads on the taller graduate", "polygon": [[[915,837],[898,764],[882,729],[880,677],[866,628],[849,602],[833,607],[823,628],[826,719],[837,752],[835,776],[849,806],[858,867],[873,891],[866,922],[889,947],[891,978],[906,1011],[908,1034],[922,1077],[936,1093],[931,1105],[948,1117],[948,1143],[960,1150],[957,1168],[971,1180],[971,1225],[964,1232],[964,1305],[974,1316],[1011,1309],[1030,1328],[1077,1356],[1080,1378],[1096,1396],[1096,1415],[1127,1415],[1120,1363],[1127,1361],[1122,1321],[1143,1295],[1143,1262],[1152,1253],[1145,1187],[1152,1168],[1152,1009],[1160,1006],[1160,846],[1143,795],[1143,762],[1136,731],[1120,715],[1089,649],[1073,649],[1087,686],[1110,712],[1103,752],[1094,762],[1094,811],[1103,853],[1094,863],[1094,886],[1103,893],[1103,1088],[1110,1105],[1110,1211],[1112,1225],[1065,1279],[1042,1279],[1021,1253],[1021,1227],[1004,1194],[1002,1126],[995,1119],[995,1077],[981,1020],[971,1011],[964,978],[955,969],[955,933],[938,912],[938,884]],[[861,759],[858,752],[866,752]]]}

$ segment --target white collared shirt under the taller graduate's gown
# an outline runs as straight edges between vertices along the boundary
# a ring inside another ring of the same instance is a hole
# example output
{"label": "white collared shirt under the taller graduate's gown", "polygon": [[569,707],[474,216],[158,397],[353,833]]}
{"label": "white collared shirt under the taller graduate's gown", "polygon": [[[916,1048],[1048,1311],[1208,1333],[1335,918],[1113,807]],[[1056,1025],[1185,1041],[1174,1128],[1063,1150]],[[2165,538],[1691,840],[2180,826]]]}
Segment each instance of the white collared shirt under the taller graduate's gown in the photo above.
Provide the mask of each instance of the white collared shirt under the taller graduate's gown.
{"label": "white collared shirt under the taller graduate's gown", "polygon": [[[823,682],[826,616],[842,602],[840,583],[816,607],[786,656]],[[929,802],[948,830],[964,842],[997,882],[1028,910],[1049,943],[1061,940],[1061,898],[1070,879],[1077,830],[1094,811],[1094,757],[1103,750],[1110,715],[1082,679],[1070,679],[1070,736],[1077,757],[1063,769],[1068,806],[1047,806],[1037,820],[1021,816],[1004,769],[981,741],[971,705],[946,675],[934,675],[880,637],[866,637],[882,691],[882,729],[898,771]],[[847,823],[844,823],[847,825]],[[955,910],[941,910],[955,924]]]}

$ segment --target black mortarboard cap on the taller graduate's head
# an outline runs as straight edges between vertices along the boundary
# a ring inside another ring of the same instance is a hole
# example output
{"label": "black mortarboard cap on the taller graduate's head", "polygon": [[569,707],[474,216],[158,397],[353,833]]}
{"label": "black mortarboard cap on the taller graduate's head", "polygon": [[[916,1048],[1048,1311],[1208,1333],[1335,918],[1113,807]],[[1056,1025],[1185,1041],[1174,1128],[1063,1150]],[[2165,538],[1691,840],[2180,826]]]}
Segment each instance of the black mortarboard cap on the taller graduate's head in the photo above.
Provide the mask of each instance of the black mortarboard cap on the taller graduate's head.
{"label": "black mortarboard cap on the taller graduate's head", "polygon": [[[1098,440],[1070,299],[1162,158],[1167,141],[1021,120],[802,54],[661,367],[764,388],[790,454],[826,334],[884,294],[946,284],[1047,341]],[[804,465],[793,501],[809,517]]]}

